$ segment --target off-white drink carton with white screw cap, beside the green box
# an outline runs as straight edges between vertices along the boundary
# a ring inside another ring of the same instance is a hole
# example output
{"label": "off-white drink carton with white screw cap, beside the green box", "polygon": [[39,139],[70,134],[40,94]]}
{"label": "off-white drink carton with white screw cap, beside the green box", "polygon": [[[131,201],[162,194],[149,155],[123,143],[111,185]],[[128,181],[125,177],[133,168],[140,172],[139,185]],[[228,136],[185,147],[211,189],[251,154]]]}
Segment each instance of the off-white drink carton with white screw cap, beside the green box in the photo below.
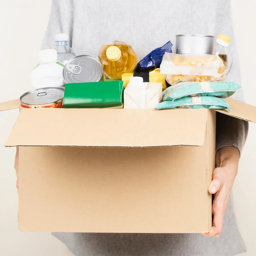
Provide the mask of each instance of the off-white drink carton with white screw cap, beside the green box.
{"label": "off-white drink carton with white screw cap, beside the green box", "polygon": [[124,90],[124,108],[155,108],[162,102],[162,83],[144,83],[142,77],[131,77]]}

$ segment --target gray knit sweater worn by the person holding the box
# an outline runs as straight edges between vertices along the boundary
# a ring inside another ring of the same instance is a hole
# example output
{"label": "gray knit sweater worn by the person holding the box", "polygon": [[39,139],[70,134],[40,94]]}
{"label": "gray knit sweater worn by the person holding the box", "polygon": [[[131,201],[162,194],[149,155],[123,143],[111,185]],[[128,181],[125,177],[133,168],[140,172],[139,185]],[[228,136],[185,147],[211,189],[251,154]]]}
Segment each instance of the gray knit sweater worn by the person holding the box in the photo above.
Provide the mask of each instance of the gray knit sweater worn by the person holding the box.
{"label": "gray knit sweater worn by the person holding the box", "polygon": [[[176,34],[232,38],[228,80],[241,84],[232,28],[230,0],[53,0],[42,49],[54,47],[55,33],[69,33],[77,55],[97,57],[103,44],[122,40],[143,58]],[[175,50],[175,49],[174,49]],[[234,98],[243,100],[242,91]],[[235,146],[242,151],[248,122],[217,114],[216,148]],[[221,236],[200,234],[82,234],[56,233],[75,255],[235,255],[245,251],[230,200]]]}

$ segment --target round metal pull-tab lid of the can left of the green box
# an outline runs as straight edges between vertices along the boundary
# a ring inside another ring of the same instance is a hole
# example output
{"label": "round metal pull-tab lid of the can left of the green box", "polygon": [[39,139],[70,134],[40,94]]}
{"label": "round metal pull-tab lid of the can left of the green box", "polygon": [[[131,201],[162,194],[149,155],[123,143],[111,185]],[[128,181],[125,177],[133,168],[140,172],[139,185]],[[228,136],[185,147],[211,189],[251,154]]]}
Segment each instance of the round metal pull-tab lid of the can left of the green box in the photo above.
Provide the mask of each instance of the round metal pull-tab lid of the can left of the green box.
{"label": "round metal pull-tab lid of the can left of the green box", "polygon": [[59,101],[63,96],[64,88],[46,87],[22,94],[20,102],[25,105],[43,105]]}

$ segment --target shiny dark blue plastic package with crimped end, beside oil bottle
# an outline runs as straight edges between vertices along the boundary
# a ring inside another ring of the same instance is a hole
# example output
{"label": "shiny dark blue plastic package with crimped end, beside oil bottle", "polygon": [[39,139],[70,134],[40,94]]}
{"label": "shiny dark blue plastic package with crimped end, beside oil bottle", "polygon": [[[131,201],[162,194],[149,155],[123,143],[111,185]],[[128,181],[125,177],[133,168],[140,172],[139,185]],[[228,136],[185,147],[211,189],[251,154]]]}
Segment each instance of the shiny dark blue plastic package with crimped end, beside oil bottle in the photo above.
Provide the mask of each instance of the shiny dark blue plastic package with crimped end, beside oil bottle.
{"label": "shiny dark blue plastic package with crimped end, beside oil bottle", "polygon": [[162,47],[156,48],[152,52],[150,52],[147,56],[145,56],[136,66],[134,71],[138,72],[140,70],[148,69],[148,68],[156,68],[159,67],[162,58],[165,52],[172,52],[172,43],[168,41]]}

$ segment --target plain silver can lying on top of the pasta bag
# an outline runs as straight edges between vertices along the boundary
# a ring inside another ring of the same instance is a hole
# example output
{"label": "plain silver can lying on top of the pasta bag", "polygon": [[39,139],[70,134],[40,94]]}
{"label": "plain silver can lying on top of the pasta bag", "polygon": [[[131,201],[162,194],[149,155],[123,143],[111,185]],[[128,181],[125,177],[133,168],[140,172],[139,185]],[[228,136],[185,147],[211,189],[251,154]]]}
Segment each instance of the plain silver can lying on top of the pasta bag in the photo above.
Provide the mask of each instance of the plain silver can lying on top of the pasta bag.
{"label": "plain silver can lying on top of the pasta bag", "polygon": [[201,35],[177,35],[177,54],[214,54],[215,37]]}

